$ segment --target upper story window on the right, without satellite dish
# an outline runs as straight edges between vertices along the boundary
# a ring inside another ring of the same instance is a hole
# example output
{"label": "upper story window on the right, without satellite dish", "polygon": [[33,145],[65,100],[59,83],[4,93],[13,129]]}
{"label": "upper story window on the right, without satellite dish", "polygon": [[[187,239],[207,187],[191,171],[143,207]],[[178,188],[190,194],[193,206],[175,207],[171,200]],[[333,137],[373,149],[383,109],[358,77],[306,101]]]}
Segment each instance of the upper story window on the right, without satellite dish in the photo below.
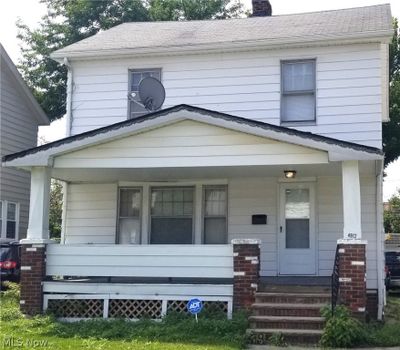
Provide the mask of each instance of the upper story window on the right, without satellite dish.
{"label": "upper story window on the right, without satellite dish", "polygon": [[315,60],[281,63],[281,122],[315,121]]}

